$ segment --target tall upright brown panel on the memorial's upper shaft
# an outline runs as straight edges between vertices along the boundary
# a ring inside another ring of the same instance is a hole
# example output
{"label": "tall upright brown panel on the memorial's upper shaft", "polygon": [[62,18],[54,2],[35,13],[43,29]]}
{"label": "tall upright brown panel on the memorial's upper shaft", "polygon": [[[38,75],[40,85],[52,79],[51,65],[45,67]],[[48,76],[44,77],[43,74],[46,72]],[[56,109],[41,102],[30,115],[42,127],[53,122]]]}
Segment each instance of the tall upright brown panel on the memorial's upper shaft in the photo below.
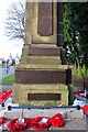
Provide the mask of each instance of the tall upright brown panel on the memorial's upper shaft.
{"label": "tall upright brown panel on the memorial's upper shaft", "polygon": [[53,4],[52,2],[37,3],[37,34],[42,36],[52,35],[53,29],[52,4]]}

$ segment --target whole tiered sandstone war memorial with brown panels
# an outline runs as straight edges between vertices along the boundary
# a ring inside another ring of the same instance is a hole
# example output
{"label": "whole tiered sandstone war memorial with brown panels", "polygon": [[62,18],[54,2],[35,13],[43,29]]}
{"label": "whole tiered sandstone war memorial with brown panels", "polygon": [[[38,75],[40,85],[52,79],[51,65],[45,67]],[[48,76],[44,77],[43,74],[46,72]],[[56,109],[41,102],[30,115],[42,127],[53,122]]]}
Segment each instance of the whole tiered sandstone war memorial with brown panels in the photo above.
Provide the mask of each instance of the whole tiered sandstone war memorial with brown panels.
{"label": "whole tiered sandstone war memorial with brown panels", "polygon": [[69,105],[70,84],[72,72],[63,48],[63,2],[26,1],[25,41],[21,64],[15,66],[12,101]]}

